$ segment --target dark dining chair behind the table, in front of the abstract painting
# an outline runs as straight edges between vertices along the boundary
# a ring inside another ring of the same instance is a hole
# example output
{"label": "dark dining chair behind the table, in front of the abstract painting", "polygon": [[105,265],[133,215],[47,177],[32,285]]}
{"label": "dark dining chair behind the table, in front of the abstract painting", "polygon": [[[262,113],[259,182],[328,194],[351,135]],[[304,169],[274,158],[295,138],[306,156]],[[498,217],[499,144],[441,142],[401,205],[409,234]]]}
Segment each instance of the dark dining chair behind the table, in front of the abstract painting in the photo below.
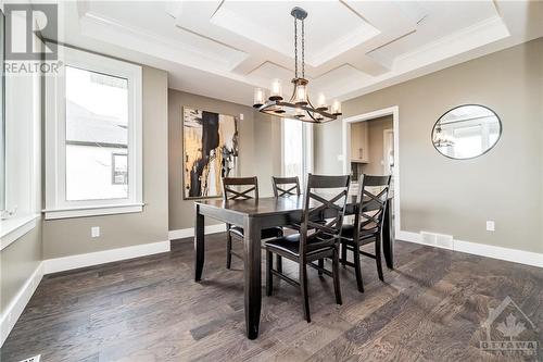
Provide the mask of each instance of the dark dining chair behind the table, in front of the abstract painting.
{"label": "dark dining chair behind the table, in front of the abstract painting", "polygon": [[[258,199],[258,179],[254,177],[224,177],[223,200]],[[232,251],[232,237],[243,240],[243,228],[226,224],[226,267],[230,269],[232,255],[243,260],[243,257]],[[282,236],[281,227],[262,229],[261,238],[269,239]]]}

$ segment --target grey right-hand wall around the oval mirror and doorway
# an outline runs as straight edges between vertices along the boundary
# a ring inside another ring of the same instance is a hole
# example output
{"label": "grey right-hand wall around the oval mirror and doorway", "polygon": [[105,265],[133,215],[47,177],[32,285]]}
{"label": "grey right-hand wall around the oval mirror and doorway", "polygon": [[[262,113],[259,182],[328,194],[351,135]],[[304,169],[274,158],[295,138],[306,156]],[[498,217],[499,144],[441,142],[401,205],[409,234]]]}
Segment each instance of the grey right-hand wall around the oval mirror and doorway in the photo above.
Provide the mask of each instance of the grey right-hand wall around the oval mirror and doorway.
{"label": "grey right-hand wall around the oval mirror and doorway", "polygon": [[[502,118],[503,135],[483,157],[439,154],[438,117],[480,103]],[[399,105],[402,229],[543,252],[543,38],[343,103],[343,116]],[[315,165],[341,173],[341,121],[316,127]],[[485,230],[485,221],[496,230]]]}

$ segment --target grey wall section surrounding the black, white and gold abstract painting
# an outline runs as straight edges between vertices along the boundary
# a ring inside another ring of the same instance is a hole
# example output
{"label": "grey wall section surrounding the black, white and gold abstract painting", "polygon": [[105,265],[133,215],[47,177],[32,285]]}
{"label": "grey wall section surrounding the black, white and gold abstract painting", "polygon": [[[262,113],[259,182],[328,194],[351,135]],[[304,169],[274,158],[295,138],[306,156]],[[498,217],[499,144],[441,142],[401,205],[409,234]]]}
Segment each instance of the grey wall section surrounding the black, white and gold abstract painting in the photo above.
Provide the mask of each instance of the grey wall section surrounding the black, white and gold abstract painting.
{"label": "grey wall section surrounding the black, white and gold abstract painting", "polygon": [[[169,89],[168,140],[169,140],[169,229],[193,226],[194,203],[182,199],[182,118],[181,108],[212,111],[240,116],[239,123],[240,176],[258,177],[261,196],[270,196],[272,175],[280,173],[280,122],[272,120],[251,107],[225,102],[218,99]],[[206,220],[207,224],[217,224]]]}

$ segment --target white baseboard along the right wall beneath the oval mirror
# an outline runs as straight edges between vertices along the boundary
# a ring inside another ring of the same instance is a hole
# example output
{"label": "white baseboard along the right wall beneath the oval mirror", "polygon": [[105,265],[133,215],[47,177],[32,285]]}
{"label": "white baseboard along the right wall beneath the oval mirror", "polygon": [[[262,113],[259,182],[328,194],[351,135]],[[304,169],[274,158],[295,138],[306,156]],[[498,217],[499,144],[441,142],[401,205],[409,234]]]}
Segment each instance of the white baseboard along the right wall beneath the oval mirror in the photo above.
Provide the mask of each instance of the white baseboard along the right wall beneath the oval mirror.
{"label": "white baseboard along the right wall beneath the oval mirror", "polygon": [[[434,248],[441,248],[440,246],[422,242],[420,234],[413,232],[400,230],[396,233],[395,238],[397,240],[427,245]],[[443,249],[449,249],[449,248],[443,248]],[[457,239],[453,240],[452,250],[466,252],[468,254],[473,254],[473,255],[487,257],[492,259],[505,260],[514,263],[543,267],[543,253],[538,253],[538,252],[495,247],[491,245],[464,241]]]}

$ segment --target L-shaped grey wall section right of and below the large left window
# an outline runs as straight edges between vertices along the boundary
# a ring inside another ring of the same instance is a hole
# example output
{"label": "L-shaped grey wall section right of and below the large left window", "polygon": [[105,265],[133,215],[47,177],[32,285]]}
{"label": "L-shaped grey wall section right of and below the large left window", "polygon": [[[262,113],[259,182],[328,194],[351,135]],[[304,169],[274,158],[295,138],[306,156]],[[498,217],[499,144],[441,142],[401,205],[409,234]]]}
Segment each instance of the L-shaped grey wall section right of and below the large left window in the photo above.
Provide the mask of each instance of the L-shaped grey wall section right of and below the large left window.
{"label": "L-shaped grey wall section right of and below the large left window", "polygon": [[168,239],[167,97],[167,73],[143,66],[143,212],[45,221],[43,259]]}

